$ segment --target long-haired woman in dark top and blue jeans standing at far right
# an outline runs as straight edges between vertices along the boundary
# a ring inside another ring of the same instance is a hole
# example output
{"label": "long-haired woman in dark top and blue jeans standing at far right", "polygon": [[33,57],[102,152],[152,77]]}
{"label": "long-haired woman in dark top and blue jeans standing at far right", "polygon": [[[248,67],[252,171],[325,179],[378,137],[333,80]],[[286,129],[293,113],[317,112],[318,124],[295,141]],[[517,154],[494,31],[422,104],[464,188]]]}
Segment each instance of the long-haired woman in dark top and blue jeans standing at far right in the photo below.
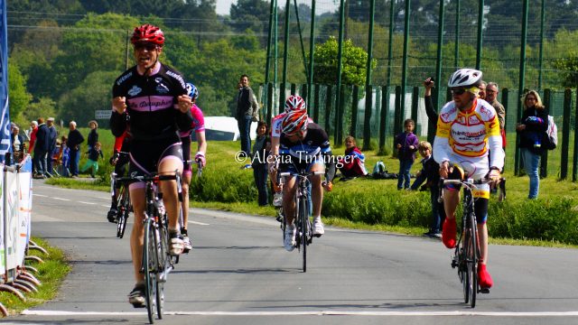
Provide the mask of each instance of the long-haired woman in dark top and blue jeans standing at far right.
{"label": "long-haired woman in dark top and blue jeans standing at far right", "polygon": [[536,90],[528,91],[522,98],[524,113],[516,126],[516,132],[520,134],[520,153],[524,169],[530,178],[530,191],[527,198],[534,200],[538,198],[540,188],[538,168],[540,157],[544,152],[542,136],[548,128],[548,113]]}

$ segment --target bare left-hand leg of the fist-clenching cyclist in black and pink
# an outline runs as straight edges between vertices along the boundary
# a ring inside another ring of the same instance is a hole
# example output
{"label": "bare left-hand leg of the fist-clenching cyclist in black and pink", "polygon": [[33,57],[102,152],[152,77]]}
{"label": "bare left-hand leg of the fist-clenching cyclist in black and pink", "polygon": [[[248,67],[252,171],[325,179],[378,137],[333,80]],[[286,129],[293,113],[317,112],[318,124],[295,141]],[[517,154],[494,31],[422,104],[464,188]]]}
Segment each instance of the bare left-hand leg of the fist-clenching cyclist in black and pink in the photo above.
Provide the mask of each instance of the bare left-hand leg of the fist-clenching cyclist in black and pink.
{"label": "bare left-hand leg of the fist-clenching cyclist in black and pink", "polygon": [[135,212],[135,223],[133,224],[133,231],[130,234],[130,252],[133,256],[135,280],[138,283],[144,281],[144,274],[141,274],[140,271],[143,259],[143,220],[146,200],[144,199],[144,187],[135,187],[135,185],[130,187],[130,200]]}

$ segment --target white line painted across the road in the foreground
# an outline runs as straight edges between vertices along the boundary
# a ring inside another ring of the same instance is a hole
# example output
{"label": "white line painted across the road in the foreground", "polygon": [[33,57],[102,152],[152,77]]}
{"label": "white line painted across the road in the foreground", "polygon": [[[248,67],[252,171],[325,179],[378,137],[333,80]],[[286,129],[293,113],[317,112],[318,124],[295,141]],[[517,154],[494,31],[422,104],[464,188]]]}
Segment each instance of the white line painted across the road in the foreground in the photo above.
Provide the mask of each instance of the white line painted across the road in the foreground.
{"label": "white line painted across the road in the foreground", "polygon": [[[34,316],[140,316],[146,312],[106,311],[30,311]],[[489,317],[575,317],[578,311],[164,311],[165,315],[190,316],[489,316]]]}

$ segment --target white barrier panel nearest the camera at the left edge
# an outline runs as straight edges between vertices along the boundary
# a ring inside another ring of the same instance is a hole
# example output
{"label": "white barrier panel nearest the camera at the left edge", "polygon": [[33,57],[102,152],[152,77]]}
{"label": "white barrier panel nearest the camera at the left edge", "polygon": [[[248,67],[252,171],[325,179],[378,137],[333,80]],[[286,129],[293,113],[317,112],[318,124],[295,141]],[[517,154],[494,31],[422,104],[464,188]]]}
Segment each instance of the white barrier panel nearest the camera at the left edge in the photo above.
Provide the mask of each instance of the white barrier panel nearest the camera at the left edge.
{"label": "white barrier panel nearest the camera at the left edge", "polygon": [[19,236],[18,174],[15,172],[5,172],[4,176],[6,270],[12,270],[22,263],[18,261],[16,255]]}

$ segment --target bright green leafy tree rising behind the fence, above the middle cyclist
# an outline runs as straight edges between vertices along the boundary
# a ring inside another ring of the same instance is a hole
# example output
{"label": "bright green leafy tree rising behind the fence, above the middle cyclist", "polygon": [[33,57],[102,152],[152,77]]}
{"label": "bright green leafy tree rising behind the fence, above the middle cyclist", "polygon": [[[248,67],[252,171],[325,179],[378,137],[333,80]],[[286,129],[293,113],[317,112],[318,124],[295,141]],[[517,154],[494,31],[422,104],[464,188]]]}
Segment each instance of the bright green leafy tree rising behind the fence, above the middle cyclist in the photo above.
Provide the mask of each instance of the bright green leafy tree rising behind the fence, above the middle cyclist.
{"label": "bright green leafy tree rising behind the fence, above the middle cyclist", "polygon": [[[338,47],[337,40],[331,37],[327,42],[315,46],[315,72],[313,81],[321,84],[333,84],[338,71]],[[343,42],[341,83],[347,85],[363,85],[366,79],[366,65],[368,52],[353,45],[351,40]],[[372,62],[375,68],[377,61]]]}

